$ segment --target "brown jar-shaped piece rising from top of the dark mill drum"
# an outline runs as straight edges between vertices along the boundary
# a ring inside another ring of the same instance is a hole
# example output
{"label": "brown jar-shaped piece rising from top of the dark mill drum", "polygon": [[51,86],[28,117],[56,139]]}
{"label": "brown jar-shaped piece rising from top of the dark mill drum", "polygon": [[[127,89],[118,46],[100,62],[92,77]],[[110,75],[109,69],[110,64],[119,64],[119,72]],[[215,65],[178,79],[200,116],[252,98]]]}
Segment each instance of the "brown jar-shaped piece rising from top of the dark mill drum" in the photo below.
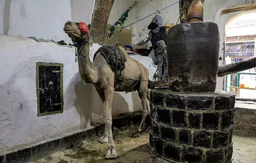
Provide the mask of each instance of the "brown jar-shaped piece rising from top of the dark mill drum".
{"label": "brown jar-shaped piece rising from top of the dark mill drum", "polygon": [[201,0],[193,0],[188,8],[188,22],[202,22],[204,18],[204,6]]}

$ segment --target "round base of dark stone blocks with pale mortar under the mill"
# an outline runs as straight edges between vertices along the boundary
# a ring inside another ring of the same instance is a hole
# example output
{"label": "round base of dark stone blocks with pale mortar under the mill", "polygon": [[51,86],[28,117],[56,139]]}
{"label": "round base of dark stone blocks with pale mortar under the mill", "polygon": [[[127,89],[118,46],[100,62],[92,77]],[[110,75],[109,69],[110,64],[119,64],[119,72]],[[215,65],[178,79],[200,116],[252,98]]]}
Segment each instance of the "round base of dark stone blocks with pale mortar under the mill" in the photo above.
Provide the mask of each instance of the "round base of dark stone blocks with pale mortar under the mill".
{"label": "round base of dark stone blocks with pale mortar under the mill", "polygon": [[151,90],[150,146],[174,163],[231,163],[235,96]]}

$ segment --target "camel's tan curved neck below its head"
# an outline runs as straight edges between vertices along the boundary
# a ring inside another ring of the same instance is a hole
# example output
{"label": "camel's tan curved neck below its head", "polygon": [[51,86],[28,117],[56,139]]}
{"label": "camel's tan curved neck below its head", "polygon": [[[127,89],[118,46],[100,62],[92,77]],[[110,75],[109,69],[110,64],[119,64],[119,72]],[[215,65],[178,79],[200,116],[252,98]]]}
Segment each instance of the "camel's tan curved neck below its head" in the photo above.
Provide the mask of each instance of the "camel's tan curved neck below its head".
{"label": "camel's tan curved neck below its head", "polygon": [[97,82],[97,72],[94,69],[92,62],[90,61],[89,52],[89,43],[83,43],[78,47],[77,59],[81,77],[85,82],[93,84]]}

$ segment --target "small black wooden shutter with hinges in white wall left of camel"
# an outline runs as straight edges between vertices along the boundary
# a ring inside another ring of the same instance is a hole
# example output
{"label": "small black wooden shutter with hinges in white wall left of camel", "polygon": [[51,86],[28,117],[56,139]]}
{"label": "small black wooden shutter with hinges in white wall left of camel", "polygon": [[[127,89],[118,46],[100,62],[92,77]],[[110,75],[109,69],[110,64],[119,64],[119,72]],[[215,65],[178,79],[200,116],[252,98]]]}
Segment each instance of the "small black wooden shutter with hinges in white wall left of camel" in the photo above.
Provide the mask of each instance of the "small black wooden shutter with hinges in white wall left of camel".
{"label": "small black wooden shutter with hinges in white wall left of camel", "polygon": [[63,65],[36,63],[38,116],[63,112]]}

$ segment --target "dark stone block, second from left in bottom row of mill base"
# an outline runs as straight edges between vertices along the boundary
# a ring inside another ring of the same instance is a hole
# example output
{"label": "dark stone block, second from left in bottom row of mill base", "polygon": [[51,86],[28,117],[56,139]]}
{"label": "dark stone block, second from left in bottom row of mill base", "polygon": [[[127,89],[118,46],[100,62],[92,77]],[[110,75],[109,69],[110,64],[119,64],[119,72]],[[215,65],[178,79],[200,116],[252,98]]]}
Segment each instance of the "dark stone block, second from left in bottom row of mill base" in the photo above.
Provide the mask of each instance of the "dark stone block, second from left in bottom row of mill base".
{"label": "dark stone block, second from left in bottom row of mill base", "polygon": [[173,144],[166,144],[164,147],[164,156],[170,160],[180,162],[181,147]]}

